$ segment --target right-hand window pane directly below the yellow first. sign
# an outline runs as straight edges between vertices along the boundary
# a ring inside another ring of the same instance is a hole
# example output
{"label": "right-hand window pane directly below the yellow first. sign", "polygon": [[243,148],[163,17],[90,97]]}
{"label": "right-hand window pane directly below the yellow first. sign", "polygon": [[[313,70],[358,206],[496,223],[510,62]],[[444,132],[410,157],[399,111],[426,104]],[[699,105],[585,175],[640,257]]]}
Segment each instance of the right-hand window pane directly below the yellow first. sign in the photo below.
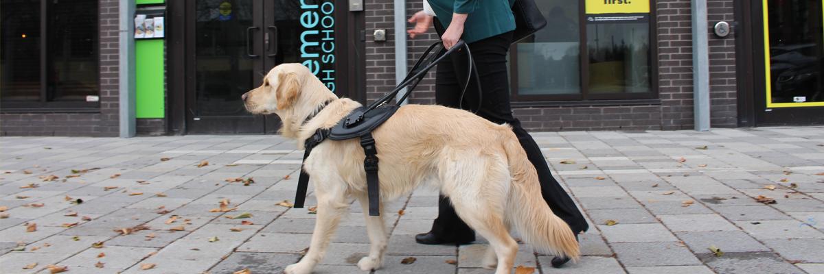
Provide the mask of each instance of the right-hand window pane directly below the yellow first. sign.
{"label": "right-hand window pane directly below the yellow first. sign", "polygon": [[649,92],[649,24],[595,23],[587,26],[589,92]]}

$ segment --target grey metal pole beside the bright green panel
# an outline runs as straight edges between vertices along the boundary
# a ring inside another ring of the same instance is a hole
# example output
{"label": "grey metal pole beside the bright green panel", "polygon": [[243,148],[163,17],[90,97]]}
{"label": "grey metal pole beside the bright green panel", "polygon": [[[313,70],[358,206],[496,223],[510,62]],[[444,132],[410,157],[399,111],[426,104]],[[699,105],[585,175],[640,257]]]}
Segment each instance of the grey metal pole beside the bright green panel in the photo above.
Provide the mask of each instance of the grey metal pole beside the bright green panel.
{"label": "grey metal pole beside the bright green panel", "polygon": [[119,110],[120,137],[137,133],[134,87],[134,0],[121,0],[119,10]]}

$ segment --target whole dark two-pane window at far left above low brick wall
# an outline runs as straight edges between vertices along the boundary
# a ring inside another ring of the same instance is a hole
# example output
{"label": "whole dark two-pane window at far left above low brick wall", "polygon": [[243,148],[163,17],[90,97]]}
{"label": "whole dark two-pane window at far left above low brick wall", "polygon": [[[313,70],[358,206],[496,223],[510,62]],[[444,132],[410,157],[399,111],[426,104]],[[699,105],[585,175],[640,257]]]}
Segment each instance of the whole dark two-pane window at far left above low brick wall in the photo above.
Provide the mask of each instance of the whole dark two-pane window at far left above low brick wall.
{"label": "whole dark two-pane window at far left above low brick wall", "polygon": [[99,104],[97,0],[2,0],[2,109]]}

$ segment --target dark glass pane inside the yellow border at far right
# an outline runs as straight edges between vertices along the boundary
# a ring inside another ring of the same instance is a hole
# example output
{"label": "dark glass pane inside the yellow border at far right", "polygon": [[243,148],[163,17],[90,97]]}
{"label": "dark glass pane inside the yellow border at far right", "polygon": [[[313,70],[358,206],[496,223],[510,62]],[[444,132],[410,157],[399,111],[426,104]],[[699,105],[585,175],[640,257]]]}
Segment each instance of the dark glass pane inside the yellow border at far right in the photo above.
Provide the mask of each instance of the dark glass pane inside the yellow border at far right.
{"label": "dark glass pane inside the yellow border at far right", "polygon": [[822,102],[822,1],[767,1],[773,103]]}

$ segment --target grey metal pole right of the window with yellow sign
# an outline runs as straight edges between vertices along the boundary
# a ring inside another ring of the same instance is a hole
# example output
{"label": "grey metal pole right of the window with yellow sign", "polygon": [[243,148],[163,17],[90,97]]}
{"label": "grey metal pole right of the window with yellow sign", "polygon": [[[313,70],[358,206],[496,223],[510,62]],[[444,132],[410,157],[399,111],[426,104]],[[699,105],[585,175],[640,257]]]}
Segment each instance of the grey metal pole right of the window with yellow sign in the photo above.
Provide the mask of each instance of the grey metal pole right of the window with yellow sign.
{"label": "grey metal pole right of the window with yellow sign", "polygon": [[692,0],[692,85],[695,131],[709,131],[707,0]]}

